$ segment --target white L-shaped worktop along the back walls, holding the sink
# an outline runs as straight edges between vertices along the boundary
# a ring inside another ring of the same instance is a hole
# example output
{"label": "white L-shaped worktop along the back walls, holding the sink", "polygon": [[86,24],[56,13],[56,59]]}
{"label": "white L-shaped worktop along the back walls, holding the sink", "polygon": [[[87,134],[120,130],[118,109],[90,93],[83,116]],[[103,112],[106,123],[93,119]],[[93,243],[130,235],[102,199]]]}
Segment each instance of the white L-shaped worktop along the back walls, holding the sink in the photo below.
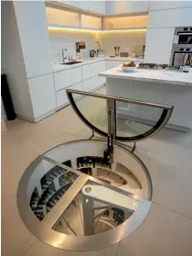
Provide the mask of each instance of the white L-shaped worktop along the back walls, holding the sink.
{"label": "white L-shaped worktop along the back walls, holding the sink", "polygon": [[62,70],[68,70],[68,69],[72,69],[72,68],[76,68],[76,67],[80,67],[83,65],[87,65],[87,64],[91,64],[97,61],[135,61],[135,62],[143,62],[144,59],[139,59],[139,58],[129,58],[129,57],[110,57],[110,56],[106,56],[104,58],[90,58],[90,59],[85,59],[85,60],[77,60],[77,61],[82,61],[80,63],[77,64],[73,64],[73,65],[64,65],[64,64],[53,64],[52,65],[52,69],[53,72],[59,72]]}

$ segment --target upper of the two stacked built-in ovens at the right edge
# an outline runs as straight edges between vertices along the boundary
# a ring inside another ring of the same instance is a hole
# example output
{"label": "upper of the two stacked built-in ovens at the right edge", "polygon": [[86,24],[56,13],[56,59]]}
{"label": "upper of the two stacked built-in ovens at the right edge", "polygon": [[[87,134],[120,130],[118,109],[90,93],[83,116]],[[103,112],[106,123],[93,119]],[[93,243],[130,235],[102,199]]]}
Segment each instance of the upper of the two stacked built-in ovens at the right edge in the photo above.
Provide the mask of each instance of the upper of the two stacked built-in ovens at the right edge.
{"label": "upper of the two stacked built-in ovens at the right edge", "polygon": [[192,27],[176,28],[174,43],[177,45],[192,45]]}

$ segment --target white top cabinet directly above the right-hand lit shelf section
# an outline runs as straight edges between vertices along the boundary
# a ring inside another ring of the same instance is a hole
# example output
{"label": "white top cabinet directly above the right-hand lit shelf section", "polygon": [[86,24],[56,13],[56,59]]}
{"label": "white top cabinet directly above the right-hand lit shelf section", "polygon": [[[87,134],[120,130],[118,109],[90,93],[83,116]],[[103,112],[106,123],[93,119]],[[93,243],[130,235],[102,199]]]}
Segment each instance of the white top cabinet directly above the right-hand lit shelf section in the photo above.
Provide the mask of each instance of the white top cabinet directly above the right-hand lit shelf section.
{"label": "white top cabinet directly above the right-hand lit shelf section", "polygon": [[107,15],[148,12],[149,1],[107,1]]}

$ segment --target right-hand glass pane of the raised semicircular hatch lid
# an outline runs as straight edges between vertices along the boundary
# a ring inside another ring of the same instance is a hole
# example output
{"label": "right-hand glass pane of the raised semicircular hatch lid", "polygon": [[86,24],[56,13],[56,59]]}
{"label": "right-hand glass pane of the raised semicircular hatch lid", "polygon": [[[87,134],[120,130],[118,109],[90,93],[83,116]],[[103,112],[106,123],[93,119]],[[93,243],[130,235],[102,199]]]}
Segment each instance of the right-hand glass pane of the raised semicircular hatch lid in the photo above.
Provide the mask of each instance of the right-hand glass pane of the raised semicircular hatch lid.
{"label": "right-hand glass pane of the raised semicircular hatch lid", "polygon": [[[167,110],[116,101],[116,139],[140,140],[148,137],[164,122]],[[158,125],[158,126],[157,126]]]}

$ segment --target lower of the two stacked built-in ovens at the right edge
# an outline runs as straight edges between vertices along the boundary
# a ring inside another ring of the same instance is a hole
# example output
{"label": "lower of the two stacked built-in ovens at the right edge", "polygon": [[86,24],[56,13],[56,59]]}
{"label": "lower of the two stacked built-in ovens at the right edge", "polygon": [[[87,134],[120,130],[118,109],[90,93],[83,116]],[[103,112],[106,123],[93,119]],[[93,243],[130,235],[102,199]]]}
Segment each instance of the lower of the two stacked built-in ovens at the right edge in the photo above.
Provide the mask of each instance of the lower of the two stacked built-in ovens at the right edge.
{"label": "lower of the two stacked built-in ovens at the right edge", "polygon": [[192,45],[191,47],[173,46],[170,64],[184,66],[185,61],[189,58],[190,66],[192,66]]}

